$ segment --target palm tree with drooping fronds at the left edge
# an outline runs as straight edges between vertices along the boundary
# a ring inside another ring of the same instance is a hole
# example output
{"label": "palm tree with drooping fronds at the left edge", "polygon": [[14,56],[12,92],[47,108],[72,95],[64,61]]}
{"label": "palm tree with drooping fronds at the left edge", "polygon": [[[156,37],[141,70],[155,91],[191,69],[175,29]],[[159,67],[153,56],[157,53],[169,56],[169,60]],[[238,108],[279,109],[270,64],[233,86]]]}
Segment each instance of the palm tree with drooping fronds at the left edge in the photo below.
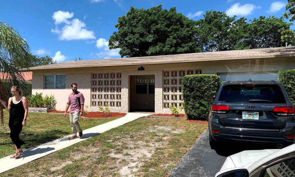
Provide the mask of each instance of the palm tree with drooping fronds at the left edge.
{"label": "palm tree with drooping fronds at the left edge", "polygon": [[[17,85],[26,88],[26,81],[18,68],[30,67],[30,48],[27,42],[11,26],[0,21],[0,72],[7,73],[0,78],[0,99],[7,103],[7,87]],[[4,79],[4,80],[2,80]],[[26,90],[23,90],[26,93]],[[1,124],[4,124],[3,109],[0,109]]]}

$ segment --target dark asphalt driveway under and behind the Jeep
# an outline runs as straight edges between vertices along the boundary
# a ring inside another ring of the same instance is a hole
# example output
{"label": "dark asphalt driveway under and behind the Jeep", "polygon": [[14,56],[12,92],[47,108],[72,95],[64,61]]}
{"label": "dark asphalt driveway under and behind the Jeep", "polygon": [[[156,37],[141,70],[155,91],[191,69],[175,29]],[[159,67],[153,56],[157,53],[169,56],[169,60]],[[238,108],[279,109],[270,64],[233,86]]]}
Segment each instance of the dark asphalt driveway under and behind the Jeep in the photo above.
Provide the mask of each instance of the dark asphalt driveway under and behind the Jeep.
{"label": "dark asphalt driveway under and behind the Jeep", "polygon": [[220,142],[218,148],[209,145],[209,129],[200,136],[189,152],[179,160],[168,177],[212,177],[220,170],[225,159],[243,150],[275,149],[270,145]]}

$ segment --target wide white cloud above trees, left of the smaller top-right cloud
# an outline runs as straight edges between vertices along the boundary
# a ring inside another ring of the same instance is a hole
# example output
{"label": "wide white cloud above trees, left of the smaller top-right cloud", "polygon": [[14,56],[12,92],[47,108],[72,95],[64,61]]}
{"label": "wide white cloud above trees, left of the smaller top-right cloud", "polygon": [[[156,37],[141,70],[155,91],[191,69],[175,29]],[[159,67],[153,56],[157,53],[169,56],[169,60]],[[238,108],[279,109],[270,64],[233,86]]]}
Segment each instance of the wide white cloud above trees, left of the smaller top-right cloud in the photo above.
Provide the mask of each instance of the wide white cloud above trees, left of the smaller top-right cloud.
{"label": "wide white cloud above trees, left of the smaller top-right cloud", "polygon": [[231,17],[234,15],[246,16],[251,14],[254,9],[260,9],[260,6],[255,6],[255,4],[244,4],[240,6],[240,3],[235,3],[225,13]]}

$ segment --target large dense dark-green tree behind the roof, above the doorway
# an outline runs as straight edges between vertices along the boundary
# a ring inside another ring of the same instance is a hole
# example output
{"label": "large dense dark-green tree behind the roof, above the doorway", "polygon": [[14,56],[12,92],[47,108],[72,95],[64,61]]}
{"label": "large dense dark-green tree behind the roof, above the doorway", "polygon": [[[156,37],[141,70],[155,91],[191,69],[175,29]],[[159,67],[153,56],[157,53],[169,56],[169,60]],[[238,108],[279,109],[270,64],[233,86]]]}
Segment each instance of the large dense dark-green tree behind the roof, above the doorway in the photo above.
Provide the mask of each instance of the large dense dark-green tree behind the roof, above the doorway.
{"label": "large dense dark-green tree behind the roof, above the doorway", "polygon": [[118,28],[109,39],[109,48],[120,48],[121,57],[141,57],[200,52],[195,41],[195,22],[176,8],[131,7],[118,18]]}

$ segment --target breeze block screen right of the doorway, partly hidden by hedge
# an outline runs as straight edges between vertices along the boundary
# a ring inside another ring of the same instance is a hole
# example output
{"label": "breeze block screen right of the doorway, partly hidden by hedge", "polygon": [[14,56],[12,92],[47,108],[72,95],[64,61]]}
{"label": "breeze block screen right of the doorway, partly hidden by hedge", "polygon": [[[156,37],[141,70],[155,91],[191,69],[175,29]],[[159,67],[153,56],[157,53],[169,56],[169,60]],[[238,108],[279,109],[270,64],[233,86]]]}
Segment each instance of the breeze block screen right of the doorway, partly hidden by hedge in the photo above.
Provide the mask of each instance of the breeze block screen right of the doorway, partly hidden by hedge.
{"label": "breeze block screen right of the doorway, partly hidden by hedge", "polygon": [[201,73],[202,69],[163,71],[163,109],[168,109],[169,104],[178,108],[182,106],[183,96],[181,84],[183,76]]}

